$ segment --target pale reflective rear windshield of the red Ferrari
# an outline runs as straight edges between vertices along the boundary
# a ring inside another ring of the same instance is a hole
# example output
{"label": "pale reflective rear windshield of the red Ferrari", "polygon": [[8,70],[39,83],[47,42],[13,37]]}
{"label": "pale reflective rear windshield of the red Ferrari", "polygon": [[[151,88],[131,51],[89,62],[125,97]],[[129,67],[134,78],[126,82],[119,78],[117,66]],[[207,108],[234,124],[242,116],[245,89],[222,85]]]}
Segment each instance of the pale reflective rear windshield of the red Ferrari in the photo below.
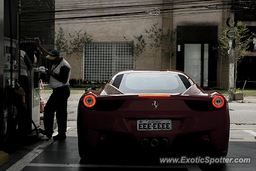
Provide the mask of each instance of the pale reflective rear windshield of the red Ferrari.
{"label": "pale reflective rear windshield of the red Ferrari", "polygon": [[124,93],[183,93],[187,88],[178,74],[150,72],[124,74],[119,89]]}

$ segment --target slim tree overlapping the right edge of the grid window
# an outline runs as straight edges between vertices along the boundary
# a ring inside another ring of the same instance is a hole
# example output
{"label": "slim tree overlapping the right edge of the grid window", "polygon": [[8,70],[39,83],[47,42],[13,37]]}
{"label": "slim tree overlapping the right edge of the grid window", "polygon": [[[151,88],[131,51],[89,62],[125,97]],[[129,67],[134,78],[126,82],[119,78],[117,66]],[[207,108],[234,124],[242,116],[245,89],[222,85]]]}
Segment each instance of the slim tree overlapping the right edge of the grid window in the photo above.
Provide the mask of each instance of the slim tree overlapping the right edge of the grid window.
{"label": "slim tree overlapping the right edge of the grid window", "polygon": [[134,69],[136,69],[136,62],[138,60],[138,58],[140,57],[140,55],[142,54],[142,52],[146,51],[146,42],[142,36],[142,34],[140,34],[140,36],[134,36],[134,38],[137,40],[137,43],[134,45],[134,40],[132,40],[132,42],[128,42],[128,40],[126,39],[126,37],[124,36],[128,46],[131,48],[131,53],[134,57]]}

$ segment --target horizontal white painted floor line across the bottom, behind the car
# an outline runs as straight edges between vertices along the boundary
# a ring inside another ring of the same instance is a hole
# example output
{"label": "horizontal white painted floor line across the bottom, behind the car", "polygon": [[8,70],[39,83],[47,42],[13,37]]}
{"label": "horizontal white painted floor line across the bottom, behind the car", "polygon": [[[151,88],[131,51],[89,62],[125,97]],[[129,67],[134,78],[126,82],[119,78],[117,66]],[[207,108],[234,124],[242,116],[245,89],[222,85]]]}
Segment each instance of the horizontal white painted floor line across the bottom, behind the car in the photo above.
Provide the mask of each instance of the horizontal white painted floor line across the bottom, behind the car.
{"label": "horizontal white painted floor line across the bottom, behind the car", "polygon": [[187,168],[188,171],[201,171],[198,165],[96,165],[96,164],[48,164],[28,163],[26,166],[37,167],[128,167],[128,168]]}

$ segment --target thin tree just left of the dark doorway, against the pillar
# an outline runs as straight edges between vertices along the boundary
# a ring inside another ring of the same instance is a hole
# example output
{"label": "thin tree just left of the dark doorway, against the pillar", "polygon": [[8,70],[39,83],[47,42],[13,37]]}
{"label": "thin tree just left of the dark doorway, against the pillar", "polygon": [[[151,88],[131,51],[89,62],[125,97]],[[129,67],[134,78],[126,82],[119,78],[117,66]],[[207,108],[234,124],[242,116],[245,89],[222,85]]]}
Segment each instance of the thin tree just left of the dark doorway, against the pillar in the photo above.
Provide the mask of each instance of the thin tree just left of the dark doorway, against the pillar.
{"label": "thin tree just left of the dark doorway, against the pillar", "polygon": [[177,42],[176,33],[177,33],[177,29],[170,30],[170,28],[168,28],[167,34],[164,35],[164,38],[166,39],[167,46],[168,46],[167,50],[170,53],[170,70],[172,69],[172,57],[175,54],[175,46],[176,46],[175,43]]}

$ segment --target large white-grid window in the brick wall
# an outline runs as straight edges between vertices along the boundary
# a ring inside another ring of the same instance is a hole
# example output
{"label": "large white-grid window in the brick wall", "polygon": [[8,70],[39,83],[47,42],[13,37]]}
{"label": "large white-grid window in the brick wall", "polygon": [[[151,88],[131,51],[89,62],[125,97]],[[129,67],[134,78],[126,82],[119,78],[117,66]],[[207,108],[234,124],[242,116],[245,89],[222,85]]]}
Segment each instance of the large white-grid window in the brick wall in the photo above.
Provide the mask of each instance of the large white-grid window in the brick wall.
{"label": "large white-grid window in the brick wall", "polygon": [[126,42],[93,42],[84,48],[84,79],[109,80],[120,70],[133,69],[133,56]]}

